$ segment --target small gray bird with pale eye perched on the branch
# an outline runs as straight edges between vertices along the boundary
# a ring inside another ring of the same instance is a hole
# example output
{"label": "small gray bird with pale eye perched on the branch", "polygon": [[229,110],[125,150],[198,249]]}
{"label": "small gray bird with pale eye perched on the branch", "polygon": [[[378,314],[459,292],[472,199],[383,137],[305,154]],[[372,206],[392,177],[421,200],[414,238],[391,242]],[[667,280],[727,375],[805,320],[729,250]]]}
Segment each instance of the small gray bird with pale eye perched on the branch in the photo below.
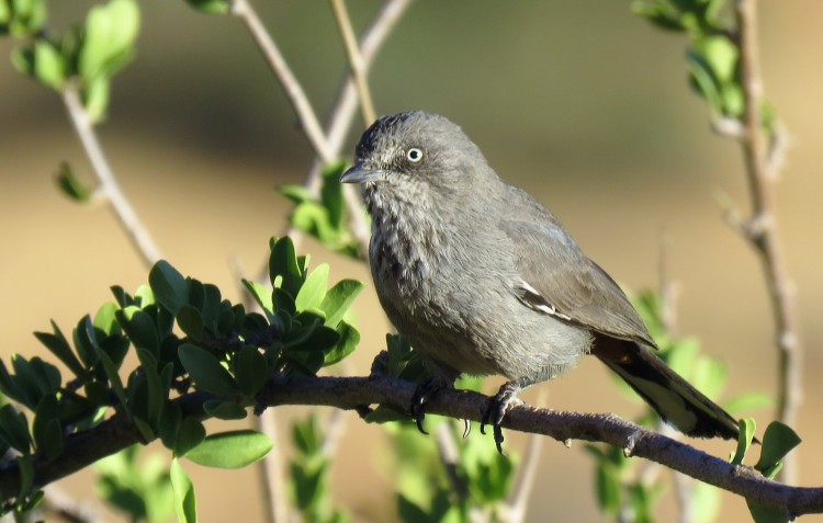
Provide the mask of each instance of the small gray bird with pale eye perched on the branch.
{"label": "small gray bird with pale eye perched on the branch", "polygon": [[736,439],[737,422],[668,368],[615,281],[557,219],[500,180],[443,116],[384,116],[363,133],[342,175],[372,216],[372,277],[388,319],[432,369],[412,413],[461,373],[508,382],[483,416],[494,427],[525,387],[593,354],[691,436]]}

